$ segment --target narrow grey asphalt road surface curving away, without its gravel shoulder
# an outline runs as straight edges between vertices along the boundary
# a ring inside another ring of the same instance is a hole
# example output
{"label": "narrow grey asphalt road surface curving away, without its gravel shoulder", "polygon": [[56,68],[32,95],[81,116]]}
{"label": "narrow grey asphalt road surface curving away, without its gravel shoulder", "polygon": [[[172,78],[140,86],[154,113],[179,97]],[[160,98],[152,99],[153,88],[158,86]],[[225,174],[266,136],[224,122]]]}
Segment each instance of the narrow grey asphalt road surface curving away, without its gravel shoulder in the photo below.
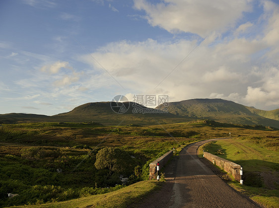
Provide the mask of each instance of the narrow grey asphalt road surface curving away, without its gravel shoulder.
{"label": "narrow grey asphalt road surface curving away, without its gravel shoulder", "polygon": [[[217,139],[210,139],[217,140]],[[200,145],[187,146],[176,164],[169,208],[257,208],[216,176],[197,156]]]}

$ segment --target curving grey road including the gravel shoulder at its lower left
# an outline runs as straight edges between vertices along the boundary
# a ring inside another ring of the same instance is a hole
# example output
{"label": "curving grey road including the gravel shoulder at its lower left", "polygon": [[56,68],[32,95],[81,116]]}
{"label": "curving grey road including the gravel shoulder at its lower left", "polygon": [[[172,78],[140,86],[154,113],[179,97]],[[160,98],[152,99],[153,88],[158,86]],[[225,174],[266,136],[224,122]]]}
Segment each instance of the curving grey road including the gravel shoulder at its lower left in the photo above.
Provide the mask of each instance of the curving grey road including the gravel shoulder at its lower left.
{"label": "curving grey road including the gravel shoulder at its lower left", "polygon": [[140,205],[132,207],[157,208],[259,208],[238,194],[197,156],[199,141],[185,147],[165,168],[166,184]]}

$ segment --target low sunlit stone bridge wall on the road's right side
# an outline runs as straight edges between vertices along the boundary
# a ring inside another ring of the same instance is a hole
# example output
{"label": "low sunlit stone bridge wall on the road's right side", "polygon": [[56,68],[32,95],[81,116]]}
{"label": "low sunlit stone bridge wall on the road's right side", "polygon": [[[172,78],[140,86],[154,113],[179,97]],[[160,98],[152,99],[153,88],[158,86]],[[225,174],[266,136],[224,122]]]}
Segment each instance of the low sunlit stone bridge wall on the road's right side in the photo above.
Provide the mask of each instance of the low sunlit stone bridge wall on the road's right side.
{"label": "low sunlit stone bridge wall on the road's right side", "polygon": [[209,152],[204,152],[204,157],[211,161],[214,165],[220,167],[222,170],[226,171],[227,173],[230,173],[236,181],[241,180],[240,165],[223,159],[221,157],[218,157],[214,154],[210,154]]}

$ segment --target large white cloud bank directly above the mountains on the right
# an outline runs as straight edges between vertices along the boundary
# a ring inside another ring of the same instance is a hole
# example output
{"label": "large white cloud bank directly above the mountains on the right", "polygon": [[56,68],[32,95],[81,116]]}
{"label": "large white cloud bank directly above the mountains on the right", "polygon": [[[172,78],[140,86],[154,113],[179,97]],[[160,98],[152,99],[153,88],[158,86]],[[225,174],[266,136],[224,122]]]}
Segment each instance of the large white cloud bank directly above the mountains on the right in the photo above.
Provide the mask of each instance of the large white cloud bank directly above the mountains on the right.
{"label": "large white cloud bank directly above the mountains on the right", "polygon": [[[259,36],[254,39],[235,37],[213,46],[202,43],[168,75],[197,43],[183,39],[121,41],[101,47],[91,55],[129,91],[126,93],[129,100],[134,94],[168,94],[170,101],[210,97],[262,109],[278,108],[275,96],[279,95],[278,65],[271,69],[269,65],[275,63],[268,64],[263,57],[254,58],[268,50]],[[90,56],[83,56],[83,61],[98,73],[106,73]],[[117,85],[113,80],[110,84]],[[254,96],[257,92],[258,98]]]}

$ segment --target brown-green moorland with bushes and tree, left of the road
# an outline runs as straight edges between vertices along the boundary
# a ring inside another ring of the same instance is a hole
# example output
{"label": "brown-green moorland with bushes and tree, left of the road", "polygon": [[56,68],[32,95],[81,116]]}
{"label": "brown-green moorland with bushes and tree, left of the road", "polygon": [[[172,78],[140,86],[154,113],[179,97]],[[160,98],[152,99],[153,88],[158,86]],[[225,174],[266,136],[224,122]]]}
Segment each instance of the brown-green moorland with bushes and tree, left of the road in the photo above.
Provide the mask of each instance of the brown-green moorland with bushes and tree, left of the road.
{"label": "brown-green moorland with bushes and tree, left of the road", "polygon": [[[195,141],[162,138],[156,131],[154,136],[132,136],[131,128],[140,127],[2,125],[0,207],[39,205],[118,190],[146,179],[150,161]],[[9,199],[8,193],[18,196]]]}

